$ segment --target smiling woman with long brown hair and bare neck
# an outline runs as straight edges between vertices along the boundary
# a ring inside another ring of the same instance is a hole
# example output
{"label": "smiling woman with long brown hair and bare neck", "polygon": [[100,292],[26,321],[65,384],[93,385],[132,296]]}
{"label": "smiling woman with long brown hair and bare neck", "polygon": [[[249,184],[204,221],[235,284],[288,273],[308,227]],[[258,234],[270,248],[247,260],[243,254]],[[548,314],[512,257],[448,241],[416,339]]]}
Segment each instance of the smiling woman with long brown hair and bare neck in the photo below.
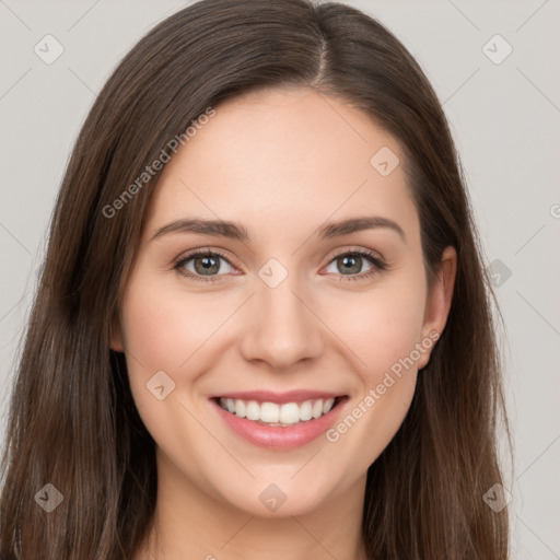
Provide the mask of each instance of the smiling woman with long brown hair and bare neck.
{"label": "smiling woman with long brown hair and bare neck", "polygon": [[182,10],[109,78],[61,186],[2,559],[505,559],[488,287],[389,32],[338,3]]}

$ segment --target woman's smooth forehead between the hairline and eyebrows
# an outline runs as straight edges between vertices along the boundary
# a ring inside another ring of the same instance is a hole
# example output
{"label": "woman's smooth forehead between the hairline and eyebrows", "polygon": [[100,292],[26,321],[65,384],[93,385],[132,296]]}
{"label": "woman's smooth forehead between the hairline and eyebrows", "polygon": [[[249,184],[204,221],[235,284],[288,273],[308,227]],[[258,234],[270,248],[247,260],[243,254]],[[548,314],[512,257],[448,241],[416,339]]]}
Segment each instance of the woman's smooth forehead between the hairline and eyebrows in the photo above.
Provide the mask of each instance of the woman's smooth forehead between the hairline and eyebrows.
{"label": "woman's smooth forehead between the hairline and eyebrows", "polygon": [[376,154],[392,166],[402,160],[398,142],[341,100],[310,89],[254,92],[205,122],[166,164],[148,233],[185,214],[277,234],[282,224],[295,234],[358,214],[418,229],[402,166],[388,175],[377,166]]}

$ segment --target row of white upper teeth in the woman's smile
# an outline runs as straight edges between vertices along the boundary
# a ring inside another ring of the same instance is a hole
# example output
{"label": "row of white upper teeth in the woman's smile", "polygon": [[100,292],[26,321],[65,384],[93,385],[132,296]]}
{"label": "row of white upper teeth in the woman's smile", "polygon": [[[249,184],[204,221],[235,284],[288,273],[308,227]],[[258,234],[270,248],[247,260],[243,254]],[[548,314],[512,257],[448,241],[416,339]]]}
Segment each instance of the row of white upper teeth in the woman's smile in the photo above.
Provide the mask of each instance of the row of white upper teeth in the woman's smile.
{"label": "row of white upper teeth in the woman's smile", "polygon": [[334,398],[305,400],[304,402],[257,402],[256,400],[242,400],[221,398],[220,406],[229,412],[260,423],[291,425],[298,422],[307,422],[313,418],[320,418],[335,406]]}

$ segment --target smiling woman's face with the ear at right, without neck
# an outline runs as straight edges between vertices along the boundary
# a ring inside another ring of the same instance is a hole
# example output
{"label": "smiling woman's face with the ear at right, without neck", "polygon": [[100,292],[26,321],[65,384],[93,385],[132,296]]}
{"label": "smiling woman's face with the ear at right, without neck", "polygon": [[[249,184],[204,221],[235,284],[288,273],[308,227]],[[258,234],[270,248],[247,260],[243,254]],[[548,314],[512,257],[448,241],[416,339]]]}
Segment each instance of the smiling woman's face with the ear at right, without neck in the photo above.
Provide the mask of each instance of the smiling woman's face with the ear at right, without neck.
{"label": "smiling woman's face with the ear at right, without neck", "polygon": [[455,254],[429,292],[399,144],[362,112],[279,90],[205,122],[158,183],[113,342],[159,477],[260,516],[363,494]]}

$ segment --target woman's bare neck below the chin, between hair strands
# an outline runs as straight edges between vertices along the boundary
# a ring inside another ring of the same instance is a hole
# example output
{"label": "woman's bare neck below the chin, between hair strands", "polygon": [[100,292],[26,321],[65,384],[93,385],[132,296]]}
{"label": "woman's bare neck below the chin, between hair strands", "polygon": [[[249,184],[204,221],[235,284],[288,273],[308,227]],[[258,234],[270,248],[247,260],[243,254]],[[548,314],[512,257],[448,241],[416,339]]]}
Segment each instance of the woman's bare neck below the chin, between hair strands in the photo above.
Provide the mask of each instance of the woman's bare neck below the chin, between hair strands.
{"label": "woman's bare neck below the chin, between hair strands", "polygon": [[258,517],[219,501],[158,458],[152,527],[135,560],[366,560],[365,477],[342,497],[298,516]]}

